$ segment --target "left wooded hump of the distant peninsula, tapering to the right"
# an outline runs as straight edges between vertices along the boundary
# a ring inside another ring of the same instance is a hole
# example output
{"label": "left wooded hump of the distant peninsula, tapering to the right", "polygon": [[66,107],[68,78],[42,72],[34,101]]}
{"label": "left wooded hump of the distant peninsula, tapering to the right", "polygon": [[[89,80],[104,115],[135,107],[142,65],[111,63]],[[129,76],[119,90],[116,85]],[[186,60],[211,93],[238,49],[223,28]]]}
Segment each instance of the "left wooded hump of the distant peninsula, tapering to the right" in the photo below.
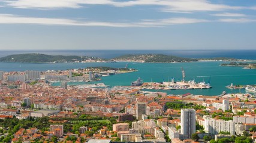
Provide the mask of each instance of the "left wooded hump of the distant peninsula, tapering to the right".
{"label": "left wooded hump of the distant peninsula, tapering to the right", "polygon": [[19,62],[19,63],[79,63],[79,62],[103,62],[107,59],[77,56],[77,55],[46,55],[46,54],[16,54],[0,58],[0,62]]}

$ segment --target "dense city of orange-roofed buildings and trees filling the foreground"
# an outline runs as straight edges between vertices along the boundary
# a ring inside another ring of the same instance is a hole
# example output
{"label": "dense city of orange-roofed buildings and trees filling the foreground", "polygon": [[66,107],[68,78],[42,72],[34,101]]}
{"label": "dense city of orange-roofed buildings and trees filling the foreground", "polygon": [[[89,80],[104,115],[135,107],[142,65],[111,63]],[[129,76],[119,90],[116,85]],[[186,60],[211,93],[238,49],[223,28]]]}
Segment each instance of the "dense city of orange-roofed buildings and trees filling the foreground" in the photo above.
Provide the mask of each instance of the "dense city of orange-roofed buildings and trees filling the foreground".
{"label": "dense city of orange-roofed buildings and trees filling the foreground", "polygon": [[[113,88],[67,84],[115,73],[99,69],[103,68],[0,71],[0,141],[212,143],[255,139],[256,102],[251,94],[167,95],[141,91],[140,86],[148,83]],[[54,81],[61,85],[52,86]]]}

